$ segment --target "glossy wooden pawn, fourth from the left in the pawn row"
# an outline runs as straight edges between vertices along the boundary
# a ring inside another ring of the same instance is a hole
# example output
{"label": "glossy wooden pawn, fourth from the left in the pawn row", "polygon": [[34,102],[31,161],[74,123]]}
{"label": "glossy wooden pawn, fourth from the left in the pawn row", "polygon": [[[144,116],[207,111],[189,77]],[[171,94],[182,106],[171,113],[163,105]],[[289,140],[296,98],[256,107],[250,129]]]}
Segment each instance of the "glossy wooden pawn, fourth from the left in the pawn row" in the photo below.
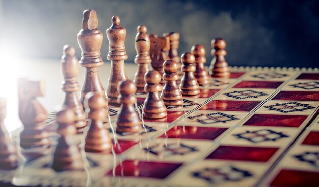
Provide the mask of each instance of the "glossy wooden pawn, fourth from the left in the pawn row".
{"label": "glossy wooden pawn, fourth from the left in the pawn row", "polygon": [[161,74],[156,70],[151,70],[145,74],[145,91],[148,92],[148,96],[145,99],[143,106],[143,117],[149,119],[160,119],[167,116],[166,108],[161,97],[159,97],[159,91],[162,90]]}

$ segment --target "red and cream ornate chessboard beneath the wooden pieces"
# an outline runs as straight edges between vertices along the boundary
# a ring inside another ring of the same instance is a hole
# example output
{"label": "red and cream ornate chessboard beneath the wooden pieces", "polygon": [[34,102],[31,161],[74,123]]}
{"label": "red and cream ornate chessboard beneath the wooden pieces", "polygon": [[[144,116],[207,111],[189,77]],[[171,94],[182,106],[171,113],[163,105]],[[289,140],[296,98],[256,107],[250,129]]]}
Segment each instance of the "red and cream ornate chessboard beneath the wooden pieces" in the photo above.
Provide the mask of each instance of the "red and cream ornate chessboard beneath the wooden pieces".
{"label": "red and cream ornate chessboard beneath the wooden pieces", "polygon": [[[82,147],[80,171],[52,170],[59,135],[50,113],[45,129],[51,147],[19,155],[18,169],[0,171],[1,185],[319,185],[318,69],[230,67],[229,78],[209,81],[199,97],[167,106],[167,118],[160,120],[143,119],[147,94],[137,93],[139,133],[116,132],[120,106],[109,103],[104,126],[112,151]],[[11,133],[16,144],[20,131]],[[74,139],[80,144],[83,136]]]}

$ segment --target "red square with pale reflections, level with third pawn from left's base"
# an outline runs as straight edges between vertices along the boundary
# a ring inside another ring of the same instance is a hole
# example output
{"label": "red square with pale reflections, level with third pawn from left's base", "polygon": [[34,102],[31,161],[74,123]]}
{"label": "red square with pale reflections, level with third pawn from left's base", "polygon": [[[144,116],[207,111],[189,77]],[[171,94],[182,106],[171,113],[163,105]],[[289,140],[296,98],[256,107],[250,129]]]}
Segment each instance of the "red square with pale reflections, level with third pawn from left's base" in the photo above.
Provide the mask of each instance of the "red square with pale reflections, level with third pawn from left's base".
{"label": "red square with pale reflections, level with third pawn from left's base", "polygon": [[206,139],[214,140],[227,128],[175,126],[163,134],[163,138]]}

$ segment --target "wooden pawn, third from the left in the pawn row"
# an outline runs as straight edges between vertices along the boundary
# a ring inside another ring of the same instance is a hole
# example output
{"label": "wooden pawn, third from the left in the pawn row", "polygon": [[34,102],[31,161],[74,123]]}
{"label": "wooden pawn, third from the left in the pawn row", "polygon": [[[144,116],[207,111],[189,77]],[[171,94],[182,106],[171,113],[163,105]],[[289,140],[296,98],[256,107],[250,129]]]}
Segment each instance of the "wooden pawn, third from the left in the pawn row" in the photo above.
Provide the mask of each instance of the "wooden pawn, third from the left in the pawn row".
{"label": "wooden pawn, third from the left in the pawn row", "polygon": [[121,103],[121,109],[118,114],[116,131],[119,133],[125,132],[140,132],[140,119],[138,113],[134,110],[134,104],[137,102],[134,93],[136,86],[130,80],[123,81],[119,84],[118,103]]}

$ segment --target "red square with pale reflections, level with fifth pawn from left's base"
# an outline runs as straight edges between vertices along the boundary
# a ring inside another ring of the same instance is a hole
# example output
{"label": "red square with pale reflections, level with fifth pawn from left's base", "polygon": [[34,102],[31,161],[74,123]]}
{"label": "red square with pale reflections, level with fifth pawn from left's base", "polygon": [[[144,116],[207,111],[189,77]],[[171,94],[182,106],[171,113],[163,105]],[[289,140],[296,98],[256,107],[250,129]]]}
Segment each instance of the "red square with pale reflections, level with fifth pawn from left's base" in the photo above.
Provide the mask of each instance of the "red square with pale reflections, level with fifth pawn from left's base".
{"label": "red square with pale reflections, level with fifth pawn from left's base", "polygon": [[259,101],[212,100],[199,110],[251,111],[259,103]]}

